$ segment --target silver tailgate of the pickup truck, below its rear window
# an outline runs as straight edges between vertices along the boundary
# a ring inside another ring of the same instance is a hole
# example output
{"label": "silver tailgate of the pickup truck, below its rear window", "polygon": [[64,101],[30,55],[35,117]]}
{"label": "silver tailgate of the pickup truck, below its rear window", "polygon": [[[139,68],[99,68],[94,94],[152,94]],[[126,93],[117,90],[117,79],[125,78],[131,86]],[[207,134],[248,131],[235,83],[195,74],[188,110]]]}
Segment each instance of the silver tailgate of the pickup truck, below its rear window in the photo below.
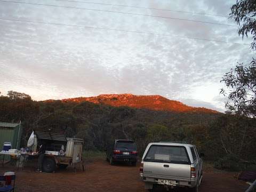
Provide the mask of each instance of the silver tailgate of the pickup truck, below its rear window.
{"label": "silver tailgate of the pickup truck, below its rear window", "polygon": [[166,178],[190,180],[190,165],[174,163],[144,162],[143,175]]}

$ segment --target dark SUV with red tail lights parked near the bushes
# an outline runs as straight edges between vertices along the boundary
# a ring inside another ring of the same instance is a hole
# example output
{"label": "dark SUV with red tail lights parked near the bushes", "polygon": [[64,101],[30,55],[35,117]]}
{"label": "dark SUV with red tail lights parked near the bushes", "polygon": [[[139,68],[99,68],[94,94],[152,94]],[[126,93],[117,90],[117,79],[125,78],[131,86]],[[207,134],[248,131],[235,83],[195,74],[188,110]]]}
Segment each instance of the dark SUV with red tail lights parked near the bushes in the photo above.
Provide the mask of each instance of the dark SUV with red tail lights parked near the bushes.
{"label": "dark SUV with red tail lights parked near the bushes", "polygon": [[111,165],[116,162],[129,162],[136,166],[138,151],[134,141],[118,139],[107,148],[106,155]]}

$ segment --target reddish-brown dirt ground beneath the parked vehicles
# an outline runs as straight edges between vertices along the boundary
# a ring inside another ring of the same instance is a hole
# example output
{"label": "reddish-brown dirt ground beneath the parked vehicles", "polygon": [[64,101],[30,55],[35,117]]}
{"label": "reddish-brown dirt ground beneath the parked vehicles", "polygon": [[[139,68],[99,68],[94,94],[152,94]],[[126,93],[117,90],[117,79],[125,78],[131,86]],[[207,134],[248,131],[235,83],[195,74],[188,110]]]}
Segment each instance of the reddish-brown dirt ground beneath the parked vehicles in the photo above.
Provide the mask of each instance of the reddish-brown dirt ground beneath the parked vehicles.
{"label": "reddish-brown dirt ground beneath the parked vehicles", "polygon": [[[137,167],[125,164],[111,166],[108,162],[98,160],[86,163],[85,172],[81,170],[74,172],[70,167],[67,170],[57,170],[55,173],[37,173],[33,167],[25,167],[25,170],[17,171],[13,166],[0,165],[0,174],[6,171],[16,172],[15,191],[18,192],[145,191],[139,177],[139,163]],[[248,187],[245,182],[235,179],[235,173],[206,170],[199,191],[238,192],[245,191]],[[159,189],[159,191],[163,190]]]}

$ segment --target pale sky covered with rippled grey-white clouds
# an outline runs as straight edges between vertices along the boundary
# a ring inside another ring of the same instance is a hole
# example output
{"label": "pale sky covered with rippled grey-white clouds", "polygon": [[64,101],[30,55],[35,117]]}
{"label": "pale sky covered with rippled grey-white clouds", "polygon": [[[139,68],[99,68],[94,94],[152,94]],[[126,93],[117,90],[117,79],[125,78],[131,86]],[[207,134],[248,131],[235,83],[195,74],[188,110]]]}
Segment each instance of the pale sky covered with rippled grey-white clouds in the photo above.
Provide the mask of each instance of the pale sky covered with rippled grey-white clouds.
{"label": "pale sky covered with rippled grey-white clouds", "polygon": [[250,45],[246,45],[251,38],[239,37],[236,23],[219,16],[228,15],[236,0],[16,1],[22,3],[0,1],[3,95],[13,90],[34,100],[46,100],[113,93],[157,94],[189,106],[225,111],[226,99],[219,94],[225,86],[220,83],[222,76],[237,62],[247,64],[253,57]]}

